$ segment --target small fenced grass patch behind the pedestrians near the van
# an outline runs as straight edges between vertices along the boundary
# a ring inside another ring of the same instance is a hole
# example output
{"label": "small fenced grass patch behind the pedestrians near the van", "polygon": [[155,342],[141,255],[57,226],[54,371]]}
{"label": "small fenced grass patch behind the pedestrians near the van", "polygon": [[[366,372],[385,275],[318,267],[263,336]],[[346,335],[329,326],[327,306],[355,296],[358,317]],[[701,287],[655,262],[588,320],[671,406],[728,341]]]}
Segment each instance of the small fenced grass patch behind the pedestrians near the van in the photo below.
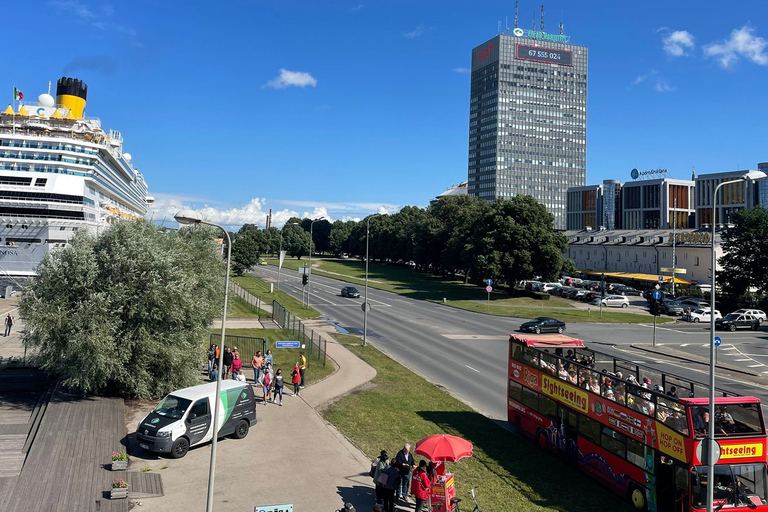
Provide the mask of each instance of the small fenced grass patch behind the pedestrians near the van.
{"label": "small fenced grass patch behind the pedestrians near the van", "polygon": [[[220,334],[221,331],[218,329],[211,330],[211,333],[213,334]],[[275,342],[276,341],[286,341],[286,340],[293,340],[295,337],[293,336],[292,332],[290,330],[286,329],[227,329],[227,334],[232,336],[250,336],[254,338],[266,338],[269,342],[269,347],[272,349],[272,356],[273,356],[273,364],[272,367],[277,370],[278,368],[283,369],[283,376],[286,379],[286,384],[289,385],[286,389],[293,389],[290,387],[290,378],[291,378],[291,371],[293,370],[293,365],[296,363],[296,361],[299,360],[299,351],[298,348],[275,348]],[[207,348],[207,344],[206,344]],[[304,351],[304,354],[308,354],[307,350]],[[245,361],[245,363],[250,364],[250,360]],[[333,364],[333,361],[328,359],[328,362],[325,366],[323,366],[320,362],[318,362],[317,359],[315,359],[314,354],[312,357],[307,356],[307,372],[305,375],[305,383],[307,385],[310,385],[314,382],[319,382],[323,380],[324,378],[328,377],[332,373],[336,371],[336,366]],[[245,376],[248,379],[253,378],[253,371],[250,369],[246,369]]]}

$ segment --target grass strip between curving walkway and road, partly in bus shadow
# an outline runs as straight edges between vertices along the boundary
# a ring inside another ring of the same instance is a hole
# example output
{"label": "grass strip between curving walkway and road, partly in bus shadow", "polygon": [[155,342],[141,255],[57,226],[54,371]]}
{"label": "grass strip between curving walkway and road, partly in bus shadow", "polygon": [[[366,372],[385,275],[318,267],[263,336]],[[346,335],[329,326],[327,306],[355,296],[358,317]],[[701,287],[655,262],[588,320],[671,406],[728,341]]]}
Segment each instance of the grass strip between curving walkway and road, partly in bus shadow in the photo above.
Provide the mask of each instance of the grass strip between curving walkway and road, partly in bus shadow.
{"label": "grass strip between curving walkway and road, partly in bus shadow", "polygon": [[476,487],[486,512],[629,510],[610,491],[542,454],[533,442],[504,430],[375,347],[363,348],[355,336],[335,337],[378,373],[364,390],[332,404],[324,417],[371,459],[382,449],[394,457],[406,442],[415,445],[428,435],[453,434],[474,444],[471,458],[448,463],[456,474],[457,496],[466,500],[469,489]]}

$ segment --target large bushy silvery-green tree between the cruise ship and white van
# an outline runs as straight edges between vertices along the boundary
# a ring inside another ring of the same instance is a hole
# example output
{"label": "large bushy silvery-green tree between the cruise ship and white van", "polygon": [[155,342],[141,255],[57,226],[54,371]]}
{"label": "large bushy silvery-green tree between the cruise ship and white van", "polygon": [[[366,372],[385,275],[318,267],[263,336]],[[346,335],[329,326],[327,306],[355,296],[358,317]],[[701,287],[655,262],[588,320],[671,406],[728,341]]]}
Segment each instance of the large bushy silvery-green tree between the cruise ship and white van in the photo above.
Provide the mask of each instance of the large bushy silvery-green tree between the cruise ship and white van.
{"label": "large bushy silvery-green tree between the cruise ship and white van", "polygon": [[38,267],[20,303],[22,340],[84,394],[152,398],[199,381],[201,343],[221,313],[218,230],[120,222],[78,232]]}

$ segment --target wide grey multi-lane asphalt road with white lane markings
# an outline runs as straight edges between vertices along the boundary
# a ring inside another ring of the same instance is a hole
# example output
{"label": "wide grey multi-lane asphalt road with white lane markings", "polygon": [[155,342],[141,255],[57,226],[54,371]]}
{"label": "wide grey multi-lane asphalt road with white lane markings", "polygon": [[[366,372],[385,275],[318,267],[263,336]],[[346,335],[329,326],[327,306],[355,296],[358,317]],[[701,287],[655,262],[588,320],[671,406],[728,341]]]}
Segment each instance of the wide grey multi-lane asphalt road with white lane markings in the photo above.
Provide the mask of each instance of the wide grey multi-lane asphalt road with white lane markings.
{"label": "wide grey multi-lane asphalt road with white lane markings", "polygon": [[[274,282],[277,269],[259,266],[254,275]],[[298,272],[283,270],[280,289],[301,298]],[[354,284],[319,275],[312,277],[310,305],[352,334],[362,334],[363,298],[341,297],[343,286]],[[368,341],[415,373],[445,388],[478,412],[505,420],[509,334],[523,319],[459,310],[442,304],[368,288]],[[542,310],[542,315],[552,314]],[[553,314],[552,316],[556,316]],[[583,339],[595,350],[638,364],[648,364],[687,379],[706,382],[706,365],[682,361],[633,348],[653,341],[653,319],[648,324],[569,324],[566,334]],[[738,371],[718,369],[718,387],[759,396],[768,383],[768,326],[761,331],[718,332],[723,344],[718,362]],[[665,324],[656,327],[656,343],[707,359],[709,327],[702,324]]]}

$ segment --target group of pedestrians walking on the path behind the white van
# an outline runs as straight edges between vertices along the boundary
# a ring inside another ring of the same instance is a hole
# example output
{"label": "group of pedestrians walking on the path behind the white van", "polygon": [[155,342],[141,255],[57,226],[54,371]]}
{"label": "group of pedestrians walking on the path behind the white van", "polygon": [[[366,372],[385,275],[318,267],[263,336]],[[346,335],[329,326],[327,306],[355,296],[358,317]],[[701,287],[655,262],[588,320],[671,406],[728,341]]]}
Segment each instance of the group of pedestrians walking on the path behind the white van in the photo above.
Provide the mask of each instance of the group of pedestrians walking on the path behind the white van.
{"label": "group of pedestrians walking on the path behind the white van", "polygon": [[[208,378],[211,382],[215,382],[219,378],[218,360],[220,355],[219,346],[211,345],[208,349]],[[240,359],[240,352],[237,350],[237,347],[230,349],[225,345],[223,358],[224,373],[222,378],[232,378],[245,382],[243,362]],[[272,363],[272,350],[267,350],[265,355],[262,355],[260,350],[256,352],[251,359],[253,383],[255,386],[261,387],[264,405],[267,405],[270,401],[283,405],[283,370],[282,368],[274,370]],[[299,396],[301,388],[304,387],[306,369],[307,358],[302,351],[299,352],[299,360],[296,361],[291,372],[291,383],[293,384],[293,394],[291,396]]]}

